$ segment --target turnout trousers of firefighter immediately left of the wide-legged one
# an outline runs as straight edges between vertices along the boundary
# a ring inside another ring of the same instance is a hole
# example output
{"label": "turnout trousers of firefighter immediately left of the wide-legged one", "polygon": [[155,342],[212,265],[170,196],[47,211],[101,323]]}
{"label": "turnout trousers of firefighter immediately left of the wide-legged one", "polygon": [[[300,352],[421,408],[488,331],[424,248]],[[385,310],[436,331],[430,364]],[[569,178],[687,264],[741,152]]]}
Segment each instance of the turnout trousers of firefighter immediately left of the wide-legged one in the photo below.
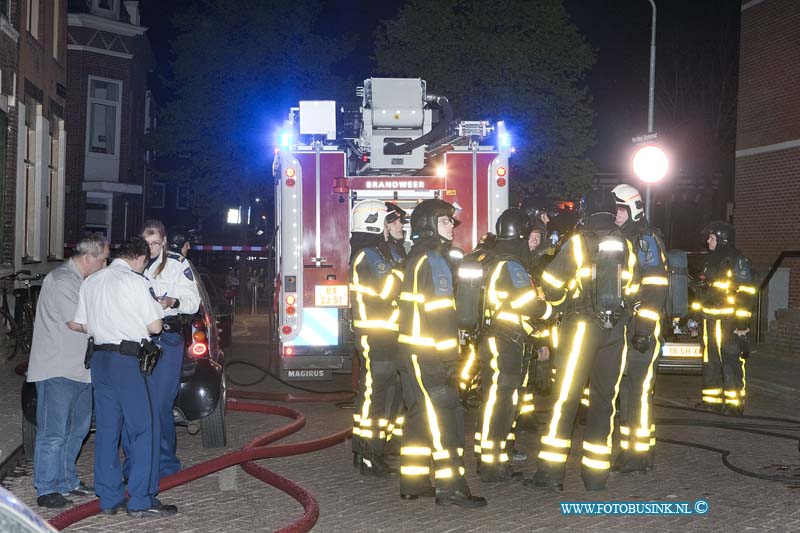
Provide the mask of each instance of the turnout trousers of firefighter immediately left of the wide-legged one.
{"label": "turnout trousers of firefighter immediately left of the wide-legged one", "polygon": [[[522,347],[487,335],[478,350],[483,378],[481,417],[475,428],[475,453],[483,477],[499,474],[508,465],[509,438],[517,415],[525,360]],[[511,442],[513,444],[513,442]]]}

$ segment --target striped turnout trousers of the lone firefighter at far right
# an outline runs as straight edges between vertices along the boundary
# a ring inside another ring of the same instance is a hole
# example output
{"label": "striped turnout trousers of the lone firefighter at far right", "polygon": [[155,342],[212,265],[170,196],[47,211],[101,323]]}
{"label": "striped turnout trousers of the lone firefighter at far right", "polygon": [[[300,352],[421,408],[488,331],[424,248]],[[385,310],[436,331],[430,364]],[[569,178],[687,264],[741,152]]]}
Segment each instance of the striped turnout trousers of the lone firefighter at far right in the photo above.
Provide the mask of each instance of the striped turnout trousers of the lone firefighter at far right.
{"label": "striped turnout trousers of the lone firefighter at far right", "polygon": [[703,320],[703,403],[744,408],[745,360],[731,320]]}

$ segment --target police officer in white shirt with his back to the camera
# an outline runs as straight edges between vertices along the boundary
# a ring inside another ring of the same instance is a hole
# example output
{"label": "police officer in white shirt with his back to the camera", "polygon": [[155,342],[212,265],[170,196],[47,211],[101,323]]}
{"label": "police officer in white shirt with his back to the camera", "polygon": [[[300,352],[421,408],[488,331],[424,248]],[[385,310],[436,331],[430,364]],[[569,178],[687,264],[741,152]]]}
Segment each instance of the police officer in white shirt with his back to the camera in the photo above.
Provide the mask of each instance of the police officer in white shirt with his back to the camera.
{"label": "police officer in white shirt with his back to the camera", "polygon": [[[100,348],[91,355],[94,385],[95,434],[94,481],[100,510],[115,514],[127,505],[135,518],[174,515],[174,505],[156,498],[159,482],[159,437],[152,376],[143,375],[139,360],[123,346],[150,340],[162,328],[163,310],[142,277],[147,243],[133,237],[122,244],[108,268],[89,276],[80,289],[72,329],[88,333]],[[156,364],[158,367],[158,364]],[[125,500],[119,461],[120,434],[130,440],[125,452],[130,461],[128,496]]]}

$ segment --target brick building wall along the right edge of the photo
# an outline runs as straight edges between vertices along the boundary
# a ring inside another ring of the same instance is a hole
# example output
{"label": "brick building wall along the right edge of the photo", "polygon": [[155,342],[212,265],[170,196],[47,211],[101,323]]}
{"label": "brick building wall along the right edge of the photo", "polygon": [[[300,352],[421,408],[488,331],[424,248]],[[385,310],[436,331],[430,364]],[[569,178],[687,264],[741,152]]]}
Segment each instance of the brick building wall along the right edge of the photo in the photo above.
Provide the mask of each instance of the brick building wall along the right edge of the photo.
{"label": "brick building wall along the right edge of the photo", "polygon": [[[800,250],[798,27],[800,2],[742,2],[734,222],[738,247],[761,273],[782,251]],[[783,267],[770,297],[788,310],[762,324],[769,321],[774,342],[800,352],[800,260]]]}

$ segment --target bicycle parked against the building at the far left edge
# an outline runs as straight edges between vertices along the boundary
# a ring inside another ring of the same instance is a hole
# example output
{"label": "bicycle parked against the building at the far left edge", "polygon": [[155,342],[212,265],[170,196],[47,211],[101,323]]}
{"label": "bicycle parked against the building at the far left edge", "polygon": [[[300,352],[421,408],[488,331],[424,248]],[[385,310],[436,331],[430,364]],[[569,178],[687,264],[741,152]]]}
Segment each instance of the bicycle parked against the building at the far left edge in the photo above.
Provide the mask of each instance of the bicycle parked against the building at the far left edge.
{"label": "bicycle parked against the building at the far left edge", "polygon": [[[27,277],[22,277],[27,276]],[[36,292],[32,284],[44,278],[42,274],[31,275],[30,270],[20,270],[5,276],[0,276],[3,283],[3,302],[0,305],[0,356],[6,360],[12,359],[22,349],[30,352],[33,343],[33,322],[36,318]],[[13,289],[15,297],[15,314],[11,313],[8,306],[8,283],[22,283],[23,288]]]}

